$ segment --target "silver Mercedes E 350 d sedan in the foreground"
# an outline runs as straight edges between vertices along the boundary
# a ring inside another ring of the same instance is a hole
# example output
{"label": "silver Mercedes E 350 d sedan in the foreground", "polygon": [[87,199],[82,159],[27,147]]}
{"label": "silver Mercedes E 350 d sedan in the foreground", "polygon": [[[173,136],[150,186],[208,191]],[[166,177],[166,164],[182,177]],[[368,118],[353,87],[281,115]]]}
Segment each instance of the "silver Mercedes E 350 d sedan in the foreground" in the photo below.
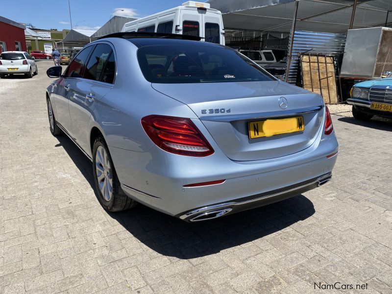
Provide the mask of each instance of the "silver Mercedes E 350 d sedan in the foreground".
{"label": "silver Mercedes E 350 d sedan in the foreground", "polygon": [[[195,39],[195,40],[193,40]],[[102,206],[184,221],[259,207],[331,178],[338,142],[320,95],[196,37],[117,33],[47,88],[50,131],[93,162]]]}

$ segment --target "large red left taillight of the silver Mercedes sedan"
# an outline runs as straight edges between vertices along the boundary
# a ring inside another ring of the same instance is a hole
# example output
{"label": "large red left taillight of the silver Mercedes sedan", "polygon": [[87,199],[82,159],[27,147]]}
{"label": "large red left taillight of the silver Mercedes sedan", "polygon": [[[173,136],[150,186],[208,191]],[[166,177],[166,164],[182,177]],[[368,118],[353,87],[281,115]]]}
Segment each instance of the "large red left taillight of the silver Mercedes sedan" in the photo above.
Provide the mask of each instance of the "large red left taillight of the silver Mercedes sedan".
{"label": "large red left taillight of the silver Mercedes sedan", "polygon": [[214,149],[190,119],[149,115],[142,119],[142,126],[152,142],[170,153],[188,156],[214,153]]}

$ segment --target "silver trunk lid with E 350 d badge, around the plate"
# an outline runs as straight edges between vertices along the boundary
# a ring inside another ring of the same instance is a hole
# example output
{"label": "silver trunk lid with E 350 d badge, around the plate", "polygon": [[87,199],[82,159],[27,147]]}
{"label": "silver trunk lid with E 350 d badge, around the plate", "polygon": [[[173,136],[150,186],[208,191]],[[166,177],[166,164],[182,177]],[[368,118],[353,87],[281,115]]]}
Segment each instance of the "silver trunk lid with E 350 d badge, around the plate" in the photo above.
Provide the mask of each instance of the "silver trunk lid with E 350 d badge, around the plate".
{"label": "silver trunk lid with E 350 d badge, around the plate", "polygon": [[[224,154],[234,161],[270,159],[299,152],[313,144],[323,121],[323,101],[314,93],[281,81],[205,84],[152,84],[187,104]],[[285,105],[279,105],[286,101]],[[304,130],[249,138],[248,123],[303,117]]]}

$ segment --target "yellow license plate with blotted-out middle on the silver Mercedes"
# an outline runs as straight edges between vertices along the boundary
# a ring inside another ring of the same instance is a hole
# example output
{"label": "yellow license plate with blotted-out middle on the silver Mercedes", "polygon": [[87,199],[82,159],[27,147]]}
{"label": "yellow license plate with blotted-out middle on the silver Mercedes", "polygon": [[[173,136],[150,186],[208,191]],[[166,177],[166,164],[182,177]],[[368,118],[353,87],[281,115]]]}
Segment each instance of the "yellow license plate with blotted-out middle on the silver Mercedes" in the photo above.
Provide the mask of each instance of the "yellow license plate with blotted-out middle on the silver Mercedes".
{"label": "yellow license plate with blotted-out middle on the silver Mercedes", "polygon": [[305,129],[302,116],[249,122],[248,127],[250,139],[301,132]]}

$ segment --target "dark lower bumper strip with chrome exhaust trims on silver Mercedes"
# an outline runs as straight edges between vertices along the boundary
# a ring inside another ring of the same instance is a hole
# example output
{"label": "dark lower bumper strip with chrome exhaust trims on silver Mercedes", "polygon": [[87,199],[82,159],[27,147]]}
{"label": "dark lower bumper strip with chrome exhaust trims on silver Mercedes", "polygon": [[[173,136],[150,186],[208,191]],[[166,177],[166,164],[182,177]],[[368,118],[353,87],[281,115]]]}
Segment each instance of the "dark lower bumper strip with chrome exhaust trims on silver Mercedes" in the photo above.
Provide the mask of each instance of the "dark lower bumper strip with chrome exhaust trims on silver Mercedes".
{"label": "dark lower bumper strip with chrome exhaust trims on silver Mercedes", "polygon": [[229,202],[217,203],[209,206],[193,209],[188,212],[180,213],[176,217],[183,221],[195,222],[206,221],[219,218],[223,215],[230,215],[251,208],[256,208],[278,202],[301,193],[315,189],[327,183],[332,177],[332,173],[326,173],[319,177],[309,179],[285,188],[235,199]]}

